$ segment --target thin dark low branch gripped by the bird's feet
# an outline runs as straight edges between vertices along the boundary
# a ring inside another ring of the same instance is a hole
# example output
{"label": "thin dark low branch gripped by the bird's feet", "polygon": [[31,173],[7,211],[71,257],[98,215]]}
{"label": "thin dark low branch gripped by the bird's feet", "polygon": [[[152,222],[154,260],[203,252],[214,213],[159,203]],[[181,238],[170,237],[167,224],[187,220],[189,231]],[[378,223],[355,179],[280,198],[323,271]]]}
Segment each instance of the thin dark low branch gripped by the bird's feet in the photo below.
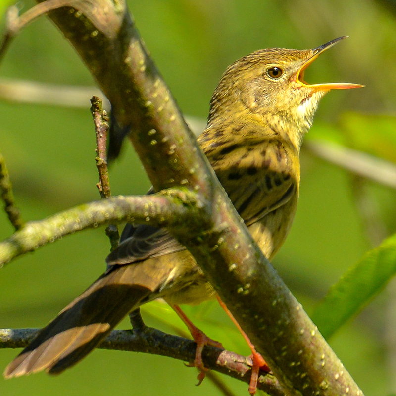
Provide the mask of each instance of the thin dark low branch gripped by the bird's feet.
{"label": "thin dark low branch gripped by the bird's feet", "polygon": [[[23,348],[40,329],[0,329],[0,349]],[[143,352],[193,362],[197,345],[193,340],[145,327],[143,330],[113,330],[99,345],[100,349]],[[224,349],[205,346],[202,352],[205,367],[248,383],[251,358]],[[274,396],[284,396],[276,378],[260,372],[258,389]]]}

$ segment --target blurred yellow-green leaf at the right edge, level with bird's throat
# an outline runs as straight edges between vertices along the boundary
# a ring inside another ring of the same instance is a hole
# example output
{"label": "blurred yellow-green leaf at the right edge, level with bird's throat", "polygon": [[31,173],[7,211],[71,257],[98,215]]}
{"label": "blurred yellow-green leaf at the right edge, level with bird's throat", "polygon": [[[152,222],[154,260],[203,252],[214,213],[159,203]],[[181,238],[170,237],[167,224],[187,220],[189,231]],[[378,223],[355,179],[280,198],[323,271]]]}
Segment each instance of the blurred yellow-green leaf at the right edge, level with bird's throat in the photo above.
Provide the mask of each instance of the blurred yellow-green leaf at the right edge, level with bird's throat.
{"label": "blurred yellow-green leaf at the right edge, level with bird's throat", "polygon": [[348,112],[341,127],[349,147],[396,162],[396,117]]}

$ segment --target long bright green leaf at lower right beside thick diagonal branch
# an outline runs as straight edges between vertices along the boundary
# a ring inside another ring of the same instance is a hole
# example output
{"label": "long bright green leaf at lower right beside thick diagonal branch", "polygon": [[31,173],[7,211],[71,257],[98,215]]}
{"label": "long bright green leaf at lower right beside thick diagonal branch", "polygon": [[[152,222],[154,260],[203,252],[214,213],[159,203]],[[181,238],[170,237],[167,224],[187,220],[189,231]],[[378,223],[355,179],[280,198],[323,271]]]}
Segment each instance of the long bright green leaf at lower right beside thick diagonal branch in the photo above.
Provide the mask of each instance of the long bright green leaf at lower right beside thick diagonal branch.
{"label": "long bright green leaf at lower right beside thick diagonal branch", "polygon": [[329,338],[375,297],[396,272],[396,234],[367,252],[350,268],[311,315],[324,337]]}

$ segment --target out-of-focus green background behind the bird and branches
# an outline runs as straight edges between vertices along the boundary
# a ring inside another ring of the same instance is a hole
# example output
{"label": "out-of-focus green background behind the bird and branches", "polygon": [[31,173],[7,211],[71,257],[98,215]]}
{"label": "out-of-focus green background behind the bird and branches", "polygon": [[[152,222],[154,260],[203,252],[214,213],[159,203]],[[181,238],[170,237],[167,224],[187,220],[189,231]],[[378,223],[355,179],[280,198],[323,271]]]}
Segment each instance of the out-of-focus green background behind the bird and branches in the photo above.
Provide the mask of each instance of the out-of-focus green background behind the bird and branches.
{"label": "out-of-focus green background behind the bird and branches", "polygon": [[[392,1],[390,2],[392,6]],[[1,3],[5,7],[8,3]],[[23,11],[33,2],[23,3]],[[183,112],[204,120],[225,68],[266,47],[306,49],[342,35],[350,38],[322,55],[305,74],[312,83],[348,81],[366,88],[336,91],[320,103],[307,142],[336,142],[396,162],[396,14],[374,0],[146,0],[129,1],[136,24]],[[394,8],[395,9],[395,8]],[[2,10],[4,12],[4,8]],[[46,18],[14,40],[0,85],[14,80],[93,87],[74,50]],[[25,84],[25,83],[24,83]],[[25,84],[26,85],[26,84]],[[52,89],[49,86],[49,89]],[[41,219],[99,198],[95,134],[85,107],[13,100],[1,90],[0,150],[26,220]],[[45,97],[44,101],[51,101]],[[328,288],[368,249],[396,229],[395,190],[365,181],[301,154],[301,192],[295,224],[273,264],[312,312]],[[112,192],[143,194],[149,180],[129,145],[110,171]],[[12,233],[0,212],[0,238]],[[0,327],[41,327],[104,270],[109,243],[103,229],[68,236],[21,257],[0,273]],[[395,283],[329,340],[366,395],[396,392]],[[248,354],[216,303],[187,308],[191,318],[226,348]],[[183,326],[160,303],[144,312],[164,331]],[[128,322],[120,328],[128,327]],[[0,351],[0,371],[16,355]],[[97,350],[59,377],[40,373],[3,380],[0,393],[17,395],[218,395],[182,362],[138,353]],[[235,394],[247,386],[223,378]]]}

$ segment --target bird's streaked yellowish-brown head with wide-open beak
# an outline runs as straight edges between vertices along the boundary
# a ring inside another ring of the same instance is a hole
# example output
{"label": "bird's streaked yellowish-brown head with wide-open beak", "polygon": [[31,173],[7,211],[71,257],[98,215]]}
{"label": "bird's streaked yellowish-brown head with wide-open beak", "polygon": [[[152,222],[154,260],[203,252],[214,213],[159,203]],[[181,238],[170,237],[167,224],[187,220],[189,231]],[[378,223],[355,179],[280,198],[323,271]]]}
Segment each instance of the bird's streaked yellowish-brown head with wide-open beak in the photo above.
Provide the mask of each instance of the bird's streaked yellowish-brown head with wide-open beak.
{"label": "bird's streaked yellowish-brown head with wide-open beak", "polygon": [[[319,100],[332,89],[363,87],[351,83],[308,84],[305,69],[325,50],[347,36],[314,49],[261,49],[227,68],[210,102],[213,116],[250,113],[275,122],[292,124],[301,135],[312,124]],[[246,111],[247,113],[246,113]]]}

